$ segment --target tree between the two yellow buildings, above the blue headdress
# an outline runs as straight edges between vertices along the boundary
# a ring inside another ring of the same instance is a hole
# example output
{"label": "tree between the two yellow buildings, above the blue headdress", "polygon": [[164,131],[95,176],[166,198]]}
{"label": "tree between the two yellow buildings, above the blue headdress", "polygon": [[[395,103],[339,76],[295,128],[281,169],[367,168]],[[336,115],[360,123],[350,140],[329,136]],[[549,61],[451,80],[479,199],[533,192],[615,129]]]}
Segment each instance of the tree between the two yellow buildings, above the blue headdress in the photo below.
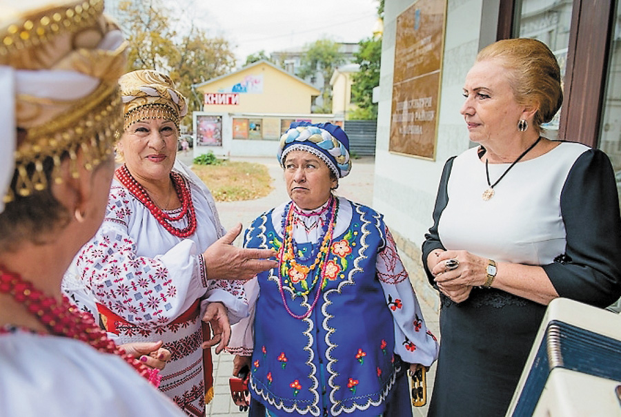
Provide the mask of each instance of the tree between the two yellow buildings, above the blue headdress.
{"label": "tree between the two yellow buildings, above the blue headdress", "polygon": [[302,79],[322,75],[322,105],[315,113],[332,112],[332,89],[330,79],[336,68],[344,64],[345,59],[339,51],[339,44],[330,39],[319,39],[305,46],[306,52],[300,59],[300,68],[297,76]]}

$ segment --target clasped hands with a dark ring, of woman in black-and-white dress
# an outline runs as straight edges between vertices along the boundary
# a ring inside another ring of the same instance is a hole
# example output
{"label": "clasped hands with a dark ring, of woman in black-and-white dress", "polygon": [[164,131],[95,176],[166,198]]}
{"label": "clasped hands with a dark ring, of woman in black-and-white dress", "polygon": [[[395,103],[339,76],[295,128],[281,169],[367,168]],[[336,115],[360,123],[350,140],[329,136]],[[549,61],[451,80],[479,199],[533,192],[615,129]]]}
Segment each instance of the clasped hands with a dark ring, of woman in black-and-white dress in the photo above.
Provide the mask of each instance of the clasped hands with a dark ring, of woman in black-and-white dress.
{"label": "clasped hands with a dark ring, of woman in black-and-white dress", "polygon": [[[434,255],[431,254],[429,258],[431,264]],[[457,266],[453,269],[447,267],[449,260],[457,260]],[[486,259],[468,251],[444,251],[437,253],[431,274],[435,277],[437,288],[444,295],[454,302],[462,302],[469,298],[472,287],[485,283],[486,266]]]}

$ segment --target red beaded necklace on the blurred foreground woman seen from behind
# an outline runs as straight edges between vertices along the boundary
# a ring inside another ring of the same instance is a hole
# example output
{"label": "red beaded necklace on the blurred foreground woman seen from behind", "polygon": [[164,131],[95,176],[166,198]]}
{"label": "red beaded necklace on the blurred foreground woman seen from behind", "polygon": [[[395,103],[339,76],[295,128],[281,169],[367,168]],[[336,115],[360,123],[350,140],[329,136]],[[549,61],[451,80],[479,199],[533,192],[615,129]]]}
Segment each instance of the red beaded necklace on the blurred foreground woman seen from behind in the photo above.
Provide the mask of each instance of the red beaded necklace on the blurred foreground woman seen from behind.
{"label": "red beaded necklace on the blurred foreground woman seen from behind", "polygon": [[[19,275],[0,268],[0,293],[9,294],[23,304],[34,317],[55,336],[86,342],[103,353],[112,353],[128,362],[138,373],[155,387],[159,386],[159,369],[151,369],[122,348],[117,347],[105,331],[101,330],[88,313],[80,311],[69,302],[66,296],[58,302],[55,298],[35,289],[31,282]],[[0,331],[0,333],[5,333]]]}

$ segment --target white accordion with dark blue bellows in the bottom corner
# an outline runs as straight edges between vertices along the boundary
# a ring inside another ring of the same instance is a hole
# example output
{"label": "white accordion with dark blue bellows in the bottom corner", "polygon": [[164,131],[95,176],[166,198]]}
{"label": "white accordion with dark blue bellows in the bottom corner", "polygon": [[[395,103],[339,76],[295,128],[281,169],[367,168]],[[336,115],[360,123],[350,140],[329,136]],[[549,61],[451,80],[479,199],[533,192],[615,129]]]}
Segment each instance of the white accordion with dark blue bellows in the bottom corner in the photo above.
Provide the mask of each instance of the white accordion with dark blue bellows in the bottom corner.
{"label": "white accordion with dark blue bellows in the bottom corner", "polygon": [[621,316],[553,300],[506,416],[621,416]]}

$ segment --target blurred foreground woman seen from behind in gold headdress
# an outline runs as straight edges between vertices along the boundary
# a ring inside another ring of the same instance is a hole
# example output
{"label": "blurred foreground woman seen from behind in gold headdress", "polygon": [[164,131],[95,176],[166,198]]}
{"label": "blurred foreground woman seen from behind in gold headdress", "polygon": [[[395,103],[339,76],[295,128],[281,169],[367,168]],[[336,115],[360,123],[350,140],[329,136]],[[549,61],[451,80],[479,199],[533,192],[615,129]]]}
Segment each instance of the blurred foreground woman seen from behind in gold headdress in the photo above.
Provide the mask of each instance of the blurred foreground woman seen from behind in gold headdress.
{"label": "blurred foreground woman seen from behind in gold headdress", "polygon": [[101,225],[122,124],[127,43],[102,12],[103,0],[0,2],[1,416],[184,415],[158,371],[61,292]]}

